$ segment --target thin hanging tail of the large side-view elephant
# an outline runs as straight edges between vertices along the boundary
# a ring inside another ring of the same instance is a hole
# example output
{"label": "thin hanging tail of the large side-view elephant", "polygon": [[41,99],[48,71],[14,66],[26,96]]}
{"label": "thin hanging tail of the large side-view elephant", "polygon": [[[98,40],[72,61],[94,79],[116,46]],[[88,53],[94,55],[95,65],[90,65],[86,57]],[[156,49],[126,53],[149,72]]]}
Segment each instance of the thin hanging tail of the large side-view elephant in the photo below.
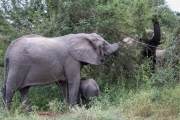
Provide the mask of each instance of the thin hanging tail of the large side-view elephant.
{"label": "thin hanging tail of the large side-view elephant", "polygon": [[7,81],[7,64],[8,64],[8,58],[4,59],[4,84],[2,86],[1,92],[2,92],[2,98],[3,98],[3,107],[5,107],[5,101],[6,101],[6,81]]}

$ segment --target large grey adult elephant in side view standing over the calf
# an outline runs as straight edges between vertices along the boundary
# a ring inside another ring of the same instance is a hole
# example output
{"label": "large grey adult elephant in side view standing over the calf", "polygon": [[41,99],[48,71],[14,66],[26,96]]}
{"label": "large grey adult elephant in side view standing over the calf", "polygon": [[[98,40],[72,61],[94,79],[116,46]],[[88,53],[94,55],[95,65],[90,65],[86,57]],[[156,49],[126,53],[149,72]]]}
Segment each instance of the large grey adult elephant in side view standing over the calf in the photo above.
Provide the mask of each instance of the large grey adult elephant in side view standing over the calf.
{"label": "large grey adult elephant in side view standing over the calf", "polygon": [[64,98],[74,105],[77,102],[82,65],[100,65],[105,55],[118,48],[117,43],[110,44],[95,33],[53,38],[31,34],[17,38],[5,53],[2,106],[10,108],[16,91],[20,92],[22,101],[29,105],[30,86],[54,82],[61,82]]}

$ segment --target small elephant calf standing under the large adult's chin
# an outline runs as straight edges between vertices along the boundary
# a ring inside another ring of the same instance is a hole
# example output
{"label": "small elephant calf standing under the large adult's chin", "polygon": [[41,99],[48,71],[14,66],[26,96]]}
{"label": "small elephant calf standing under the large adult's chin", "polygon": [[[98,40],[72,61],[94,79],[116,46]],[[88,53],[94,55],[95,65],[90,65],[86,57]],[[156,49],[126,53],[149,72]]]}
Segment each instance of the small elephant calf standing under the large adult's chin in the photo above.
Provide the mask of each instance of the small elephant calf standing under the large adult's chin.
{"label": "small elephant calf standing under the large adult's chin", "polygon": [[93,98],[98,98],[100,95],[99,85],[97,82],[90,78],[90,79],[82,79],[80,82],[79,87],[79,96],[78,96],[78,103],[80,104],[81,101],[84,100],[92,100]]}

